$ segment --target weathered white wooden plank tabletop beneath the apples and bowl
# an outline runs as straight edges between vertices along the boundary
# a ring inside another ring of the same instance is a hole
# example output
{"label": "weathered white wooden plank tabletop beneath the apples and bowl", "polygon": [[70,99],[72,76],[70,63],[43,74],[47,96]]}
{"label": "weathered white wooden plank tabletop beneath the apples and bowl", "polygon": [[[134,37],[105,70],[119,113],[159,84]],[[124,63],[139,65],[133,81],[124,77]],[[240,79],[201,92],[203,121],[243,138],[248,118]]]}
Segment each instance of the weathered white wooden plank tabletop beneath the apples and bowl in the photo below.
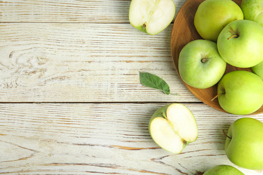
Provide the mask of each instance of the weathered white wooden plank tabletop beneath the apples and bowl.
{"label": "weathered white wooden plank tabletop beneath the apples and bowl", "polygon": [[[244,116],[191,94],[173,65],[173,23],[155,36],[137,31],[130,2],[0,0],[0,174],[195,175],[233,165],[222,129]],[[184,0],[174,2],[177,14]],[[180,96],[141,85],[139,71]],[[169,103],[186,105],[199,128],[180,155],[148,132],[153,112]]]}

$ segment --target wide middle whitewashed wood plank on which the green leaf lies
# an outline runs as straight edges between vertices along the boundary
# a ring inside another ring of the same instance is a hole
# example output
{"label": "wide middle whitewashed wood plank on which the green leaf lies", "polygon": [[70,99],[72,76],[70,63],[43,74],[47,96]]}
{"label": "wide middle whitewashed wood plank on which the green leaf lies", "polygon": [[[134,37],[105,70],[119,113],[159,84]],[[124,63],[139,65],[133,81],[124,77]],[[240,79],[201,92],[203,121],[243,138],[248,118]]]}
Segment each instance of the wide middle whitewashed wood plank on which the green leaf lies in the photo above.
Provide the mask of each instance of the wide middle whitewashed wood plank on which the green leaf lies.
{"label": "wide middle whitewashed wood plank on which the green leaf lies", "polygon": [[[130,24],[1,23],[0,102],[199,102],[175,70],[170,32],[171,25],[150,36]],[[180,96],[142,86],[139,71]]]}

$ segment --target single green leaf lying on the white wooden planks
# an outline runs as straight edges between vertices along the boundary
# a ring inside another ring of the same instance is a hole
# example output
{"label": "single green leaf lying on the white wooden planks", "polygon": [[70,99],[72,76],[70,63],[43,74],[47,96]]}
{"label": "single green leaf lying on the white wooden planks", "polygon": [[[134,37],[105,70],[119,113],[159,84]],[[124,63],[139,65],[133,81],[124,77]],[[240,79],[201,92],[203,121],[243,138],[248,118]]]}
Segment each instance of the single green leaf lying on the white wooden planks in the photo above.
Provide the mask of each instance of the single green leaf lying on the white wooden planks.
{"label": "single green leaf lying on the white wooden planks", "polygon": [[155,88],[163,91],[165,94],[170,94],[169,85],[160,77],[148,72],[140,72],[141,84],[149,88]]}

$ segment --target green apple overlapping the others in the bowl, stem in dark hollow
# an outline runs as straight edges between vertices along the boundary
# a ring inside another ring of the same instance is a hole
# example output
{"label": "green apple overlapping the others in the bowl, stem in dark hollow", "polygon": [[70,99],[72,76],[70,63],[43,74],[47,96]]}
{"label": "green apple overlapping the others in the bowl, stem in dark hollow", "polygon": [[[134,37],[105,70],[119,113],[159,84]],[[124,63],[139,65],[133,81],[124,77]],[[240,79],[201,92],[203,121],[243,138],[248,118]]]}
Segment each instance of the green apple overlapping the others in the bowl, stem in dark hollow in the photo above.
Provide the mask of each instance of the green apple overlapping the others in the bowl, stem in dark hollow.
{"label": "green apple overlapping the others in the bowl, stem in dark hollow", "polygon": [[228,64],[253,67],[263,61],[263,27],[246,19],[230,22],[219,34],[217,47]]}

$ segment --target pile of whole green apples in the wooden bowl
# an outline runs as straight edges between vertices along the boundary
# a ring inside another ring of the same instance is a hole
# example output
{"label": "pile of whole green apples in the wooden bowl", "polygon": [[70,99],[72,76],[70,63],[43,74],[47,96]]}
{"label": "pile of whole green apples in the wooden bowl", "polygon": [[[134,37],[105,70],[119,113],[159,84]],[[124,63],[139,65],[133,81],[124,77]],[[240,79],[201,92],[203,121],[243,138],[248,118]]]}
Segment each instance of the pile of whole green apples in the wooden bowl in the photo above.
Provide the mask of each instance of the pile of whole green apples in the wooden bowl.
{"label": "pile of whole green apples in the wooden bowl", "polygon": [[[194,26],[203,39],[189,42],[178,60],[182,80],[194,88],[217,85],[219,105],[247,115],[263,105],[263,0],[205,0]],[[251,68],[225,72],[226,65]]]}

